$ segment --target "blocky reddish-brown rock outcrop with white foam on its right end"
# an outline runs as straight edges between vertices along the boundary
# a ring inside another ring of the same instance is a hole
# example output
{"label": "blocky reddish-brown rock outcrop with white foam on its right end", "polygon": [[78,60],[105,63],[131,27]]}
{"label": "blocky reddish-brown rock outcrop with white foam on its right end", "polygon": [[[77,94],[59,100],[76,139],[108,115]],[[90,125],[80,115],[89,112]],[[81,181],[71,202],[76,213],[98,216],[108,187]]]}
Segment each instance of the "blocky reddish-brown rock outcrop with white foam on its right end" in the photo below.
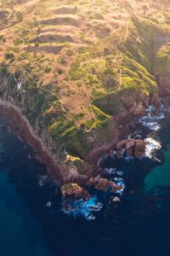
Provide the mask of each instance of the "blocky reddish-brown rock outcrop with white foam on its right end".
{"label": "blocky reddish-brown rock outcrop with white foam on its right end", "polygon": [[116,144],[116,157],[122,158],[123,149],[127,157],[140,158],[144,156],[146,143],[141,139],[122,140]]}

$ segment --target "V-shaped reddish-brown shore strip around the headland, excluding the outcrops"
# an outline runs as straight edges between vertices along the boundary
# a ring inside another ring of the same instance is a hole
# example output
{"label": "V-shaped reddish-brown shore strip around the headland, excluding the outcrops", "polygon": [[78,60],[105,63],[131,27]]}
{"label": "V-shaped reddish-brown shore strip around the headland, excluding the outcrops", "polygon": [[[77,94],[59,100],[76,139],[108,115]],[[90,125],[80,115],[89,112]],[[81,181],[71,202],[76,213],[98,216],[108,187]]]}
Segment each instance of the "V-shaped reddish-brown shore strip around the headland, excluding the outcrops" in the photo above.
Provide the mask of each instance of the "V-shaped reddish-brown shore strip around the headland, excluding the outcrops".
{"label": "V-shaped reddish-brown shore strip around the headland, excluding the outcrops", "polygon": [[43,145],[41,138],[37,137],[29,120],[21,113],[20,108],[17,108],[11,102],[0,99],[0,114],[7,119],[14,133],[17,134],[20,131],[21,137],[36,151],[37,157],[48,166],[48,172],[58,180],[60,186],[72,182],[81,184],[88,180],[88,178],[94,177],[94,175],[99,172],[99,159],[111,148],[116,148],[116,144],[127,136],[129,125],[132,125],[137,119],[137,117],[133,116],[129,111],[127,111],[126,116],[124,116],[123,123],[119,121],[119,116],[117,116],[116,128],[113,131],[114,137],[111,142],[104,143],[89,151],[85,158],[85,162],[88,164],[87,172],[84,174],[77,173],[76,176],[73,176],[65,163],[59,164],[56,162],[54,155]]}

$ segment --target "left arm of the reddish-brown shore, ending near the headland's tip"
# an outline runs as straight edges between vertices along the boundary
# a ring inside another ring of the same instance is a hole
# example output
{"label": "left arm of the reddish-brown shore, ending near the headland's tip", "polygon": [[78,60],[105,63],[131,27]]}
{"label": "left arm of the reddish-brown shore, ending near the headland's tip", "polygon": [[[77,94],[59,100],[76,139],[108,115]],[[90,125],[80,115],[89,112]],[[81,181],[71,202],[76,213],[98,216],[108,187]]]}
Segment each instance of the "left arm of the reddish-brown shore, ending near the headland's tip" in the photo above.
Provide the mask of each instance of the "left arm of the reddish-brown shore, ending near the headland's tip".
{"label": "left arm of the reddish-brown shore, ending near the headland's tip", "polygon": [[65,183],[65,177],[68,177],[69,174],[68,167],[56,163],[54,156],[50,154],[48,148],[44,147],[42,140],[37,137],[28,119],[21,113],[20,108],[10,102],[0,100],[0,114],[7,119],[13,131],[21,132],[22,138],[36,151],[37,157],[48,166],[48,172],[58,179],[59,184]]}

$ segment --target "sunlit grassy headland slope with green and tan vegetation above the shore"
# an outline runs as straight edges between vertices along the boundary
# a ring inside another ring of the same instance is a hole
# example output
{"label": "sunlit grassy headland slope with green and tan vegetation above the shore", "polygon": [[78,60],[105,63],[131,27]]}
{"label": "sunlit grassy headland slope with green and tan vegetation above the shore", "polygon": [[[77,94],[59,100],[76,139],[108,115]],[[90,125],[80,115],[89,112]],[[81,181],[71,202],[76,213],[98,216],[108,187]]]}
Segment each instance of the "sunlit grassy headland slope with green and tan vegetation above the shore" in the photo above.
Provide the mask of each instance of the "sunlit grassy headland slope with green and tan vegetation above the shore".
{"label": "sunlit grassy headland slope with green and tan vegetation above the shore", "polygon": [[104,153],[170,94],[168,1],[9,0],[1,9],[0,96],[74,176],[87,172],[92,149]]}

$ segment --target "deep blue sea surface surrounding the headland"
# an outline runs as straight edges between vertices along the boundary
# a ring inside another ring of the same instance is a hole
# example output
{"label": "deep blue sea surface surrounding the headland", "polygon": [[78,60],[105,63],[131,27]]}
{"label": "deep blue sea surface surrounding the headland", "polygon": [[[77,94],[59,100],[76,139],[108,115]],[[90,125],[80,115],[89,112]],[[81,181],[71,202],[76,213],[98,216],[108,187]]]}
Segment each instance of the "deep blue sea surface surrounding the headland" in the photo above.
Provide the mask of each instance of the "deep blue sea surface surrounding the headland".
{"label": "deep blue sea surface surrounding the headland", "polygon": [[133,126],[132,136],[154,138],[159,155],[109,166],[123,172],[121,201],[93,191],[103,207],[89,221],[61,211],[57,181],[1,118],[0,255],[170,255],[170,114],[156,122]]}

